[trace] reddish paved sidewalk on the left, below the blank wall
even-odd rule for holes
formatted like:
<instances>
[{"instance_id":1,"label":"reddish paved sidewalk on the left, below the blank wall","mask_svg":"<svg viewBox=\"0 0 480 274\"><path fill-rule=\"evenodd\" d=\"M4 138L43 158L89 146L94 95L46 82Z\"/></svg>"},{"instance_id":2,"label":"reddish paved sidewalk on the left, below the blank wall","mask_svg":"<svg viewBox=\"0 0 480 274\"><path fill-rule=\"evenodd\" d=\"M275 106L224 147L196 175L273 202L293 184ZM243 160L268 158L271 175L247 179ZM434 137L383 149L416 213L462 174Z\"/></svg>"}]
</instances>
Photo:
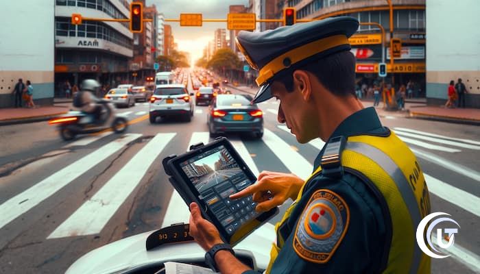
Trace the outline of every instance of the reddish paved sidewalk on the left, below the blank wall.
<instances>
[{"instance_id":1,"label":"reddish paved sidewalk on the left, below the blank wall","mask_svg":"<svg viewBox=\"0 0 480 274\"><path fill-rule=\"evenodd\" d=\"M40 106L39 108L0 108L0 126L47 121L70 110L67 106Z\"/></svg>"}]
</instances>

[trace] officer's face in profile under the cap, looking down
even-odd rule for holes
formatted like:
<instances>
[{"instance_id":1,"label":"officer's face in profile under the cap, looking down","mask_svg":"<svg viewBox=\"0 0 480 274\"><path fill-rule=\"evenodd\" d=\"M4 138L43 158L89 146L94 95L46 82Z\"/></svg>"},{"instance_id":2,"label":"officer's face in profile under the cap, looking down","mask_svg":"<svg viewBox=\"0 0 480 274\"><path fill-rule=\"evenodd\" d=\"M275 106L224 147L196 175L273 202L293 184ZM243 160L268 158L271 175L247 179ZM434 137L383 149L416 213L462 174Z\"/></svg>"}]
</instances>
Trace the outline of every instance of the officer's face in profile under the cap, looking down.
<instances>
[{"instance_id":1,"label":"officer's face in profile under the cap, looking down","mask_svg":"<svg viewBox=\"0 0 480 274\"><path fill-rule=\"evenodd\" d=\"M294 134L298 142L304 144L309 142L315 136L315 119L312 119L309 103L304 101L301 92L293 88L293 92L288 92L285 86L279 82L272 83L272 95L280 100L278 106L278 123L285 123Z\"/></svg>"}]
</instances>

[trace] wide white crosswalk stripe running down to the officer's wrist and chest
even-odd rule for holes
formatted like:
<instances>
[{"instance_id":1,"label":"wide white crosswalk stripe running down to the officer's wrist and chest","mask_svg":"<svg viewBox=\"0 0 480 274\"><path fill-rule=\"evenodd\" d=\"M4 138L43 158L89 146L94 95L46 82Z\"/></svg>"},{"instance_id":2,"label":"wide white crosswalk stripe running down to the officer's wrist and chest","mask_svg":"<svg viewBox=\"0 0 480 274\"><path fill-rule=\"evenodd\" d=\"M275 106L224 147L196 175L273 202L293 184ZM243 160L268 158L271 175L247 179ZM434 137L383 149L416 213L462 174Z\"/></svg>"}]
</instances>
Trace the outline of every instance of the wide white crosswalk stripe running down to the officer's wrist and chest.
<instances>
[{"instance_id":1,"label":"wide white crosswalk stripe running down to the officer's wrist and chest","mask_svg":"<svg viewBox=\"0 0 480 274\"><path fill-rule=\"evenodd\" d=\"M273 132L268 129L263 130L263 142L265 142L265 145L275 153L291 173L302 179L307 179L313 171L313 166L310 162L305 160L302 155L294 151L287 142Z\"/></svg>"}]
</instances>

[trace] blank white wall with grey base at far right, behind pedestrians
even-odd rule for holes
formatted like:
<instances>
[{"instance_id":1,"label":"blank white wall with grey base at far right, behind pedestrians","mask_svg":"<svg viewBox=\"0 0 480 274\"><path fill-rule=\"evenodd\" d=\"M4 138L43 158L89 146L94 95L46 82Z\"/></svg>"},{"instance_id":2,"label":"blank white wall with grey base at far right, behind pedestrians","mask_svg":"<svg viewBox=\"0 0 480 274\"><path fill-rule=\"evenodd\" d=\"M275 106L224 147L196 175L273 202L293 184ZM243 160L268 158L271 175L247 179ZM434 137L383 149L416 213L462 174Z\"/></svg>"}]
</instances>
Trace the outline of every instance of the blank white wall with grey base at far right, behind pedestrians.
<instances>
[{"instance_id":1,"label":"blank white wall with grey base at far right, behind pedestrians","mask_svg":"<svg viewBox=\"0 0 480 274\"><path fill-rule=\"evenodd\" d=\"M480 23L476 0L427 0L427 103L443 105L461 78L467 108L480 108ZM468 34L468 35L467 35Z\"/></svg>"}]
</instances>

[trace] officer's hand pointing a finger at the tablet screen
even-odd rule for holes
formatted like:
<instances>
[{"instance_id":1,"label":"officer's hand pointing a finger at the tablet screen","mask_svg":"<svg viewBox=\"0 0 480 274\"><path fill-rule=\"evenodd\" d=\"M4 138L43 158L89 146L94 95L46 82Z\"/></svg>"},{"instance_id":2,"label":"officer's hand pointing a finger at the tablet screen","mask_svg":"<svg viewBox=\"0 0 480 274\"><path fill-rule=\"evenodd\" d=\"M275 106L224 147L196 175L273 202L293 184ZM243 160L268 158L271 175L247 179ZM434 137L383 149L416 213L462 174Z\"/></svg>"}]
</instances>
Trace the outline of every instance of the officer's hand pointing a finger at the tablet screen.
<instances>
[{"instance_id":1,"label":"officer's hand pointing a finger at the tablet screen","mask_svg":"<svg viewBox=\"0 0 480 274\"><path fill-rule=\"evenodd\" d=\"M289 198L295 200L303 184L302 178L291 173L262 171L256 184L230 195L230 199L253 195L253 201L258 203L255 210L268 211Z\"/></svg>"}]
</instances>

